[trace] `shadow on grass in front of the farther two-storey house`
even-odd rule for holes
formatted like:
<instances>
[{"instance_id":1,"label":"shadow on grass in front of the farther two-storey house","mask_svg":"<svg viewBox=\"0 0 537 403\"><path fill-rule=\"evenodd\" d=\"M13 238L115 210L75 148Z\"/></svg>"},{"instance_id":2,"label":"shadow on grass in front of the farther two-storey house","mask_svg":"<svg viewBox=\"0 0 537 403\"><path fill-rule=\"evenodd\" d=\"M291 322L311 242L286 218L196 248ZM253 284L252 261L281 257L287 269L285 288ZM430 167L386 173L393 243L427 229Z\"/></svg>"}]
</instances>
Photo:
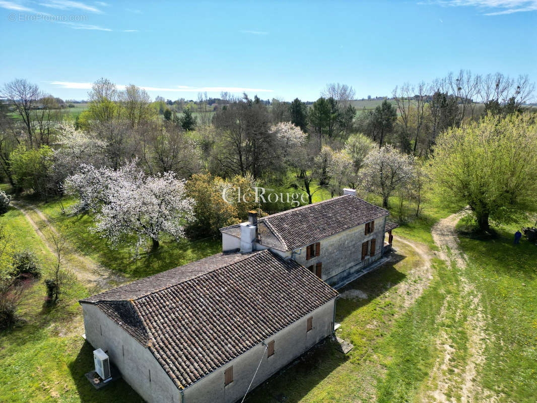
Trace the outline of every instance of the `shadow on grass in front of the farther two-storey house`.
<instances>
[{"instance_id":1,"label":"shadow on grass in front of the farther two-storey house","mask_svg":"<svg viewBox=\"0 0 537 403\"><path fill-rule=\"evenodd\" d=\"M336 321L340 322L347 316L358 310L360 307L367 305L370 301L378 298L383 293L387 292L391 287L402 282L407 276L395 268L395 265L407 256L392 252L390 260L384 263L378 269L355 279L353 282L339 289L339 293L343 294L349 290L360 290L367 294L367 298L345 298L345 304L339 303L336 311Z\"/></svg>"}]
</instances>

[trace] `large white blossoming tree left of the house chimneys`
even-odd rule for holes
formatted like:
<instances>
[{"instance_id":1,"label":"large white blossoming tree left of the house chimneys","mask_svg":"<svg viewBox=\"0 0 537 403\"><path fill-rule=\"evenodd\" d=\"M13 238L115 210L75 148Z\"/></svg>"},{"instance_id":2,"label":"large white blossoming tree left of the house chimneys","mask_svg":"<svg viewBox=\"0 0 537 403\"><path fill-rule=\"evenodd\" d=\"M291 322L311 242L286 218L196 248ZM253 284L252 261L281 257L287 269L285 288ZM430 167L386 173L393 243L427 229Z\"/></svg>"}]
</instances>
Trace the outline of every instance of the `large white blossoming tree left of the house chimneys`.
<instances>
[{"instance_id":1,"label":"large white blossoming tree left of the house chimneys","mask_svg":"<svg viewBox=\"0 0 537 403\"><path fill-rule=\"evenodd\" d=\"M68 178L67 189L79 197L74 212L95 212L92 231L114 246L134 235L137 250L148 240L156 250L163 234L182 238L194 219L194 200L186 196L184 181L173 172L145 176L134 162L118 171L85 165Z\"/></svg>"}]
</instances>

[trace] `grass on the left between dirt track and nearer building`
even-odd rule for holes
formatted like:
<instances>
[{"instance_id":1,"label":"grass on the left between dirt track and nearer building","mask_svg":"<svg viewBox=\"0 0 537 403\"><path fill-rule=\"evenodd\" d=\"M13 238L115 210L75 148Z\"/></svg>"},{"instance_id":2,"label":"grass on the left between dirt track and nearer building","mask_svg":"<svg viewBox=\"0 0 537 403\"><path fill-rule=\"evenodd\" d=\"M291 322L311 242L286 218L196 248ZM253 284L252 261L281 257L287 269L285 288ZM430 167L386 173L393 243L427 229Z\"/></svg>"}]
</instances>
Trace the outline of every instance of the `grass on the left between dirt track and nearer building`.
<instances>
[{"instance_id":1,"label":"grass on the left between dirt track and nearer building","mask_svg":"<svg viewBox=\"0 0 537 403\"><path fill-rule=\"evenodd\" d=\"M84 378L92 368L91 348L84 332L78 299L89 295L84 286L72 282L63 289L56 307L45 304L43 278L55 262L23 213L11 207L0 215L18 249L28 249L39 258L42 277L24 294L16 326L0 331L0 401L9 402L107 402L141 401L124 381L111 385L110 394L98 393Z\"/></svg>"}]
</instances>

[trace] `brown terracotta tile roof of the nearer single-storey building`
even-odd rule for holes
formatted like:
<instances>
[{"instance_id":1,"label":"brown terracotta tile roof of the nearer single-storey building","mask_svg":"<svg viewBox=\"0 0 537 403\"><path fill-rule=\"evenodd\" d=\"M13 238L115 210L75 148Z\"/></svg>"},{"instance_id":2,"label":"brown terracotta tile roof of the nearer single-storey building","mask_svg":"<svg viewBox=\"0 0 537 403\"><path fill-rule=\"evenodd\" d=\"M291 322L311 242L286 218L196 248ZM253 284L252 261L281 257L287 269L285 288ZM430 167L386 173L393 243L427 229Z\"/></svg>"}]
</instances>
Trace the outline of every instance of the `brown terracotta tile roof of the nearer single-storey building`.
<instances>
[{"instance_id":1,"label":"brown terracotta tile roof of the nearer single-storey building","mask_svg":"<svg viewBox=\"0 0 537 403\"><path fill-rule=\"evenodd\" d=\"M210 256L81 303L147 346L184 388L337 295L300 264L262 250Z\"/></svg>"}]
</instances>

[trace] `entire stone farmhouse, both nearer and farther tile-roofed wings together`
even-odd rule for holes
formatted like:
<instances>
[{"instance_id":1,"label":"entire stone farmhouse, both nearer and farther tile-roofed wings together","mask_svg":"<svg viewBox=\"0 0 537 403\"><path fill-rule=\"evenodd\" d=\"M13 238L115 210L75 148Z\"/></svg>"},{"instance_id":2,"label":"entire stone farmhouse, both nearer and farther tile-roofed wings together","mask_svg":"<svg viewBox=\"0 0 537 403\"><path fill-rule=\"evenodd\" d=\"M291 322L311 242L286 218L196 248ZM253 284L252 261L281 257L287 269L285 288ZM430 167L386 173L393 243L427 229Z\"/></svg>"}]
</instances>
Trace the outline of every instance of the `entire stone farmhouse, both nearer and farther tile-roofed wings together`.
<instances>
[{"instance_id":1,"label":"entire stone farmhouse, both nearer and farther tile-roofed wings together","mask_svg":"<svg viewBox=\"0 0 537 403\"><path fill-rule=\"evenodd\" d=\"M222 253L82 299L86 340L148 402L235 402L333 333L331 285L389 249L388 214L352 194L251 212Z\"/></svg>"}]
</instances>

